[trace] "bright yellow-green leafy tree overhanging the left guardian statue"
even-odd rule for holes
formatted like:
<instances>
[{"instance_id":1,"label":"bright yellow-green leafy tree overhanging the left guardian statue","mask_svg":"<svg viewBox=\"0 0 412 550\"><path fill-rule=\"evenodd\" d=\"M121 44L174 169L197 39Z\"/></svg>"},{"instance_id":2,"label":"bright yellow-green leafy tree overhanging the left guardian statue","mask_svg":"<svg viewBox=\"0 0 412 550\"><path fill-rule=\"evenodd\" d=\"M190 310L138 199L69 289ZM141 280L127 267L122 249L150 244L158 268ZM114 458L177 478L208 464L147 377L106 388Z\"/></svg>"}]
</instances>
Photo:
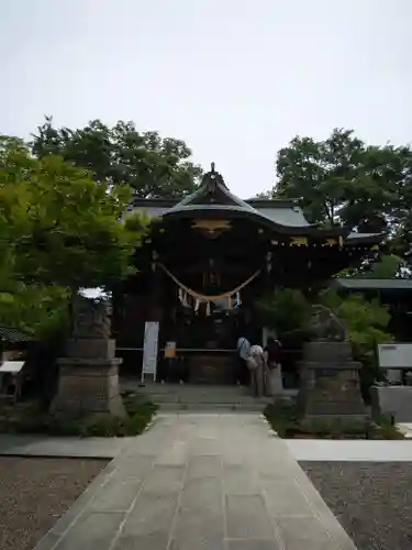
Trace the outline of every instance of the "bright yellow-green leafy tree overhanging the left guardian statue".
<instances>
[{"instance_id":1,"label":"bright yellow-green leafy tree overhanging the left guardian statue","mask_svg":"<svg viewBox=\"0 0 412 550\"><path fill-rule=\"evenodd\" d=\"M1 138L0 319L37 326L79 288L124 277L146 231L143 219L120 222L130 198L127 186Z\"/></svg>"}]
</instances>

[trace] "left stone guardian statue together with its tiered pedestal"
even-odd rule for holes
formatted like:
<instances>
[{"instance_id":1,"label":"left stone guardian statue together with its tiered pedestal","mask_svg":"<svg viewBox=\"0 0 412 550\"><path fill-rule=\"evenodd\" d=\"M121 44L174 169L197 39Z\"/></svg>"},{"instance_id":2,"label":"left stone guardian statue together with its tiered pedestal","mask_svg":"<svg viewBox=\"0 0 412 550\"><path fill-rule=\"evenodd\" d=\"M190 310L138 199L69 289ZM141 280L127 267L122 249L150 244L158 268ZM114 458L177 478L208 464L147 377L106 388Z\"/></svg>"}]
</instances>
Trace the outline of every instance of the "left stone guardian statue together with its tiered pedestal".
<instances>
[{"instance_id":1,"label":"left stone guardian statue together with its tiered pedestal","mask_svg":"<svg viewBox=\"0 0 412 550\"><path fill-rule=\"evenodd\" d=\"M108 306L91 300L77 305L74 338L58 360L59 381L51 413L62 417L126 415L119 393L115 341L110 339Z\"/></svg>"}]
</instances>

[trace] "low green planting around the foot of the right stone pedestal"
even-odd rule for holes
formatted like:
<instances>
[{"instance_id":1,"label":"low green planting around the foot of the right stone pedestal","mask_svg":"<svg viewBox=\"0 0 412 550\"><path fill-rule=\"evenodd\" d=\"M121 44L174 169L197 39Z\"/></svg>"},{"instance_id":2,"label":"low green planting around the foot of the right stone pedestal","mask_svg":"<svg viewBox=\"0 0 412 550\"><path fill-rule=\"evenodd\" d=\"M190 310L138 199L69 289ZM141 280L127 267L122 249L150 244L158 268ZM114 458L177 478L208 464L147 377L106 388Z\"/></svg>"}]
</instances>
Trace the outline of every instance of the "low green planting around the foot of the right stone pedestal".
<instances>
[{"instance_id":1,"label":"low green planting around the foot of the right stone pedestal","mask_svg":"<svg viewBox=\"0 0 412 550\"><path fill-rule=\"evenodd\" d=\"M378 421L313 419L302 421L296 400L278 399L267 405L264 415L282 439L404 439L389 417Z\"/></svg>"}]
</instances>

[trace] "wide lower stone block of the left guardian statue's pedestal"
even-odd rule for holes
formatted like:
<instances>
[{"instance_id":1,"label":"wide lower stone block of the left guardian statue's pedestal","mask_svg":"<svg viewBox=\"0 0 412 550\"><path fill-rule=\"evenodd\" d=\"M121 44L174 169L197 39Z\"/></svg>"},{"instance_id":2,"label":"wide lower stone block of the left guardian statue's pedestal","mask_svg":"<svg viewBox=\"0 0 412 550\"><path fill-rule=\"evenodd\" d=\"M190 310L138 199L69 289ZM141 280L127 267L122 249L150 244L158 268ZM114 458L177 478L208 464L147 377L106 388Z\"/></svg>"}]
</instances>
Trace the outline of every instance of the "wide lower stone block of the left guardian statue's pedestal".
<instances>
[{"instance_id":1,"label":"wide lower stone block of the left guardian statue's pedestal","mask_svg":"<svg viewBox=\"0 0 412 550\"><path fill-rule=\"evenodd\" d=\"M124 417L126 411L119 393L121 362L118 358L60 359L58 391L51 413L64 417L94 414Z\"/></svg>"}]
</instances>

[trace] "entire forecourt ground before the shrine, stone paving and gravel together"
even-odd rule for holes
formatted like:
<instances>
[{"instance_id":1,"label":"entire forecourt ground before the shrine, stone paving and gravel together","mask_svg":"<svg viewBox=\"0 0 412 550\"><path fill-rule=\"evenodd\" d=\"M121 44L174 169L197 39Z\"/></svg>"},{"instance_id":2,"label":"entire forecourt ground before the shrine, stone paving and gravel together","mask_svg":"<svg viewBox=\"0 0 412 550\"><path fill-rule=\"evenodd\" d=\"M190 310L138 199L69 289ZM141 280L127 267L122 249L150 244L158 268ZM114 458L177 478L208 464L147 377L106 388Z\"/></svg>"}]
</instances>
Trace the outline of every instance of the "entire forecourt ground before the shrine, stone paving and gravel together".
<instances>
[{"instance_id":1,"label":"entire forecourt ground before the shrine, stone paving and gravel together","mask_svg":"<svg viewBox=\"0 0 412 550\"><path fill-rule=\"evenodd\" d=\"M236 413L162 415L138 438L1 435L0 550L31 550L51 528L37 549L79 544L104 550L110 548L108 540L111 550L127 550L137 543L143 550L148 544L154 550L191 544L193 550L318 548L313 540L311 543L316 535L313 529L321 541L321 534L330 529L324 521L319 526L314 517L326 514L331 519L331 515L292 457L358 550L412 548L412 441L278 440L258 415ZM129 482L131 487L125 488ZM292 509L302 493L305 504L301 501ZM149 508L140 516L147 498ZM215 514L213 498L221 503ZM168 520L174 506L174 518ZM137 522L130 527L136 515ZM119 516L122 519L116 524ZM93 529L99 529L99 518L105 524L108 517L114 521L116 535L111 539L110 526L101 527L108 536L101 542ZM236 521L244 532L233 532ZM269 539L265 538L268 524L272 529ZM293 527L296 532L288 538ZM197 530L207 534L203 539L196 537ZM319 548L354 549L345 546L342 530L341 546L331 534L327 537Z\"/></svg>"}]
</instances>

